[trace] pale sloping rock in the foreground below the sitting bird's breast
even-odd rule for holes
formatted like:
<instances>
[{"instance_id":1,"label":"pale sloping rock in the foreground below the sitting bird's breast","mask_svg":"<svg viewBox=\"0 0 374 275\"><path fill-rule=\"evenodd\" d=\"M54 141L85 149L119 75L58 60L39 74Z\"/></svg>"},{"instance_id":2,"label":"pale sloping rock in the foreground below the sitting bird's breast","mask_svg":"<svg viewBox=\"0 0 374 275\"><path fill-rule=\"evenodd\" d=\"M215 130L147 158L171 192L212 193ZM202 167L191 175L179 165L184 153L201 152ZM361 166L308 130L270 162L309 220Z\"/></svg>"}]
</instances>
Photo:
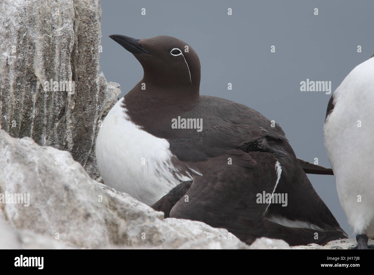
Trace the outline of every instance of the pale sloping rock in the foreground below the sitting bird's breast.
<instances>
[{"instance_id":1,"label":"pale sloping rock in the foreground below the sitting bird's breast","mask_svg":"<svg viewBox=\"0 0 374 275\"><path fill-rule=\"evenodd\" d=\"M15 243L22 248L248 248L226 229L163 219L162 212L92 180L68 152L4 130L0 171L0 202L8 197L0 209L16 229L0 227L6 236L0 249L8 238L21 239ZM24 201L10 201L21 193Z\"/></svg>"}]
</instances>

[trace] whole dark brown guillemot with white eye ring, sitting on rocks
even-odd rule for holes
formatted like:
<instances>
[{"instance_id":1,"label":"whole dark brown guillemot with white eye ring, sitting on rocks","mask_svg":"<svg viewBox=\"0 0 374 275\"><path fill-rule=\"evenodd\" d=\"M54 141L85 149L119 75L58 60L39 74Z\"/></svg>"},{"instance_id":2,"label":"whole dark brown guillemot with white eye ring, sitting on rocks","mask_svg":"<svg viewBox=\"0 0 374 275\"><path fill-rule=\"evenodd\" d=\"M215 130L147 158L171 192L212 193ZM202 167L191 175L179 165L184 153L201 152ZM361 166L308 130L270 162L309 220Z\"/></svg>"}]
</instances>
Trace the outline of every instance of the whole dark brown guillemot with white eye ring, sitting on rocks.
<instances>
[{"instance_id":1,"label":"whole dark brown guillemot with white eye ring, sitting on rocks","mask_svg":"<svg viewBox=\"0 0 374 275\"><path fill-rule=\"evenodd\" d=\"M144 76L99 130L105 184L166 217L224 227L248 243L268 236L324 244L345 236L303 171L329 169L299 162L281 127L257 111L200 96L200 61L189 45L169 36L110 37L134 54ZM263 203L262 193L287 195L287 206Z\"/></svg>"}]
</instances>

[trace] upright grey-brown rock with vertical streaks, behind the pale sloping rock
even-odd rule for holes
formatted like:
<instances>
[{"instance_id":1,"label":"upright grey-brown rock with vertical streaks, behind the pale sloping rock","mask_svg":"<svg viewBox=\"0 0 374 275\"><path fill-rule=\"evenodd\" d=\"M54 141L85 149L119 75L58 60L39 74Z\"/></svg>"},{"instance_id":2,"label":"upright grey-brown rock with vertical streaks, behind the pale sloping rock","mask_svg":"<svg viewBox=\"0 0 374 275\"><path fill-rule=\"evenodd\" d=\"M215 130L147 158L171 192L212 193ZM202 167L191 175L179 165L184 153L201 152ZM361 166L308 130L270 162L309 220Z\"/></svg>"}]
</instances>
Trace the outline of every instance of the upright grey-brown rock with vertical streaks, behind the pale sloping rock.
<instances>
[{"instance_id":1,"label":"upright grey-brown rock with vertical streaks, behind the pale sloping rock","mask_svg":"<svg viewBox=\"0 0 374 275\"><path fill-rule=\"evenodd\" d=\"M0 1L0 8L0 128L66 150L99 177L99 120L120 95L99 67L99 0ZM51 79L58 91L45 91Z\"/></svg>"}]
</instances>

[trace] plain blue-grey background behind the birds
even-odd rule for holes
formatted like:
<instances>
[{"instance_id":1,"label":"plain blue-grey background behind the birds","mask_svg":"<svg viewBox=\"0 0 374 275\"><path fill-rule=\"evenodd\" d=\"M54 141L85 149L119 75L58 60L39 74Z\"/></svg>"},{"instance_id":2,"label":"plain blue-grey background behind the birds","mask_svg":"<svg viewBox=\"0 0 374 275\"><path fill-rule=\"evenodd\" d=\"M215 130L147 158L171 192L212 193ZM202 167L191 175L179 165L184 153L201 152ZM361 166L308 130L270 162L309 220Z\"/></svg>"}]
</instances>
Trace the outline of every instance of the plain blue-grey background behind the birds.
<instances>
[{"instance_id":1,"label":"plain blue-grey background behind the birds","mask_svg":"<svg viewBox=\"0 0 374 275\"><path fill-rule=\"evenodd\" d=\"M188 43L201 63L200 94L245 104L275 120L298 158L331 167L323 139L325 92L301 92L306 79L331 81L332 92L374 53L372 0L114 1L102 0L100 66L122 96L143 71L108 36L168 35ZM146 15L141 15L141 9ZM232 15L227 9L232 8ZM313 15L318 8L319 15ZM275 53L270 46L275 45ZM362 52L357 52L357 46ZM232 83L232 91L227 83ZM331 93L332 94L332 93ZM349 160L347 160L349 161ZM329 175L309 175L317 193L352 237Z\"/></svg>"}]
</instances>

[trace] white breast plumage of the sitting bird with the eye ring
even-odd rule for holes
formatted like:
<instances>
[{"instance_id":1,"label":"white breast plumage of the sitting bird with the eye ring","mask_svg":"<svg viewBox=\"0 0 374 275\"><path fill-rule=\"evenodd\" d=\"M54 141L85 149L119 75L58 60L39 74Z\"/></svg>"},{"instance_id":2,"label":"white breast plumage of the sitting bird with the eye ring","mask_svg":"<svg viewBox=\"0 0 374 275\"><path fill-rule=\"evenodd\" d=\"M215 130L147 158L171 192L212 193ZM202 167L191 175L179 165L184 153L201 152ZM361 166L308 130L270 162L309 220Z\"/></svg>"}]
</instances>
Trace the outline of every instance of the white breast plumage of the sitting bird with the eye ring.
<instances>
[{"instance_id":1,"label":"white breast plumage of the sitting bird with the eye ring","mask_svg":"<svg viewBox=\"0 0 374 275\"><path fill-rule=\"evenodd\" d=\"M171 163L169 143L131 122L123 98L109 111L96 140L96 159L105 184L151 205L192 177Z\"/></svg>"}]
</instances>

